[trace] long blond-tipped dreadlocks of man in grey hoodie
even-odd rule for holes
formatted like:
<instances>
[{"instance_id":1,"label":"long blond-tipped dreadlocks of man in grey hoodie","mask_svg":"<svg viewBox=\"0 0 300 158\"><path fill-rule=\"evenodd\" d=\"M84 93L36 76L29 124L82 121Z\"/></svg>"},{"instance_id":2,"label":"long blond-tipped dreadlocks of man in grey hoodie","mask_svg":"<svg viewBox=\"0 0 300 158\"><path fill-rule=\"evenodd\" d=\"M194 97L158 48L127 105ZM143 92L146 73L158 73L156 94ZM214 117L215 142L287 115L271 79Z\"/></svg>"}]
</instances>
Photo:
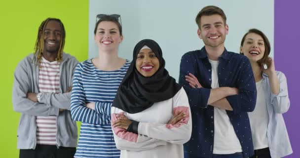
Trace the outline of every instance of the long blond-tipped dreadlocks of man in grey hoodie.
<instances>
[{"instance_id":1,"label":"long blond-tipped dreadlocks of man in grey hoodie","mask_svg":"<svg viewBox=\"0 0 300 158\"><path fill-rule=\"evenodd\" d=\"M36 60L37 64L40 62L43 51L44 51L44 31L45 31L45 27L46 27L47 23L51 20L57 21L60 24L60 27L62 29L62 33L61 33L61 39L62 40L60 41L58 54L57 54L57 57L56 57L55 60L56 61L62 61L63 60L63 50L64 50L65 38L66 38L66 32L65 32L64 24L62 23L62 21L60 19L47 18L38 27L38 38L37 38L37 41L36 41L35 52L34 52L34 55L37 58L37 60Z\"/></svg>"}]
</instances>

